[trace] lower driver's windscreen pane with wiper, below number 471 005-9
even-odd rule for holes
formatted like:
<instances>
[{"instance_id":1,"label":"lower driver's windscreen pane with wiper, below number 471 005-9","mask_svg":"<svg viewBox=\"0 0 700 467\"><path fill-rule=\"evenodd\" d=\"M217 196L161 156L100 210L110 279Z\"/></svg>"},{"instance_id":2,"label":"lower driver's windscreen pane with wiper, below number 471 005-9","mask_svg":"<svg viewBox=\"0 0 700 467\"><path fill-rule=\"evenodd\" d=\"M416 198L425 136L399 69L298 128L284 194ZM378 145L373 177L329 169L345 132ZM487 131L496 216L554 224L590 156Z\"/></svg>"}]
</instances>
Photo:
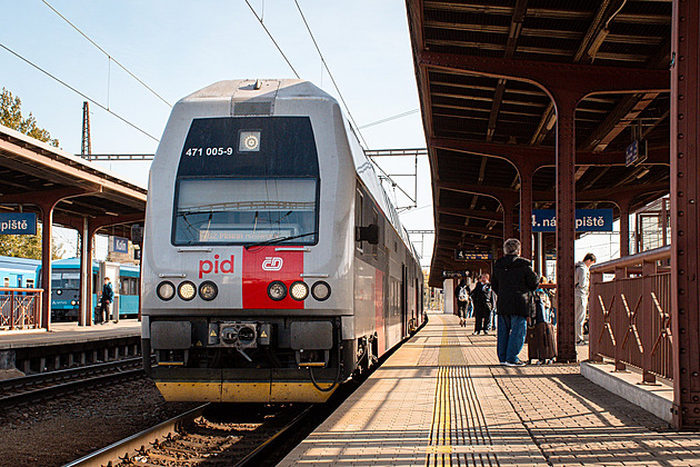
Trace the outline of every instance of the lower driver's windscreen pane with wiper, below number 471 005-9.
<instances>
[{"instance_id":1,"label":"lower driver's windscreen pane with wiper, below number 471 005-9","mask_svg":"<svg viewBox=\"0 0 700 467\"><path fill-rule=\"evenodd\" d=\"M317 180L183 179L178 186L176 217L176 245L250 244L292 237L294 244L312 245Z\"/></svg>"}]
</instances>

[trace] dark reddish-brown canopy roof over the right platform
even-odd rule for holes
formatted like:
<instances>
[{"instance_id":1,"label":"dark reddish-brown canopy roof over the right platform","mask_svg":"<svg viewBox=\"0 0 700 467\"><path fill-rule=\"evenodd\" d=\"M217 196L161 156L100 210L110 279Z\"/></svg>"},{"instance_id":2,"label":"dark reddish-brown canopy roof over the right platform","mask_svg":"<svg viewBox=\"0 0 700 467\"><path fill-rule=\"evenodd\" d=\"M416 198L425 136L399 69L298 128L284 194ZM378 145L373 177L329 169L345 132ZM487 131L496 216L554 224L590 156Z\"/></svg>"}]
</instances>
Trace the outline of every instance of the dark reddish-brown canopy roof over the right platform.
<instances>
[{"instance_id":1,"label":"dark reddish-brown canopy roof over the right platform","mask_svg":"<svg viewBox=\"0 0 700 467\"><path fill-rule=\"evenodd\" d=\"M554 208L557 107L547 89L606 89L576 107L577 208L619 218L669 192L671 6L407 0L433 180L432 286L469 266L456 249L496 251L518 237L522 180L532 208ZM647 159L626 167L633 140Z\"/></svg>"}]
</instances>

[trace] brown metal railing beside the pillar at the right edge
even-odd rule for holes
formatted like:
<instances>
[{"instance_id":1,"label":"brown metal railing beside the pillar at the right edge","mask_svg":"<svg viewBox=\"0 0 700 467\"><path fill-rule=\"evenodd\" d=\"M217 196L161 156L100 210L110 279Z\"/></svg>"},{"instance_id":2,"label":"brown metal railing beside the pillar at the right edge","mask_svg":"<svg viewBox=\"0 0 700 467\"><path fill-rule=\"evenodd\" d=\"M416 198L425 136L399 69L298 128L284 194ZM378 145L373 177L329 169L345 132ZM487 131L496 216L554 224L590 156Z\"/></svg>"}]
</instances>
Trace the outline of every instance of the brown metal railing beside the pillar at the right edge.
<instances>
[{"instance_id":1,"label":"brown metal railing beside the pillar at the right edge","mask_svg":"<svg viewBox=\"0 0 700 467\"><path fill-rule=\"evenodd\" d=\"M673 378L671 271L659 266L670 257L666 246L591 267L591 359L613 359L616 370L640 368L642 382ZM604 274L614 278L606 281Z\"/></svg>"}]
</instances>

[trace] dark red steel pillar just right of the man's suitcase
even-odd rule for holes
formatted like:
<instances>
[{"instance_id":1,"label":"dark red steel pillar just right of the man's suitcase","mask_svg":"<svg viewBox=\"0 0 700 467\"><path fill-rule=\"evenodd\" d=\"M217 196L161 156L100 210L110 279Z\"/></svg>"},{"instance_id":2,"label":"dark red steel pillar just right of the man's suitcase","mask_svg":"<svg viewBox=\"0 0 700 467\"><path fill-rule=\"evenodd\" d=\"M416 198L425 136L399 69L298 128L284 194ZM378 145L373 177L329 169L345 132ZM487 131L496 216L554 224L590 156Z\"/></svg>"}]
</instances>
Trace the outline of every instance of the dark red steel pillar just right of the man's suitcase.
<instances>
[{"instance_id":1,"label":"dark red steel pillar just right of the man's suitcase","mask_svg":"<svg viewBox=\"0 0 700 467\"><path fill-rule=\"evenodd\" d=\"M573 310L576 239L576 133L578 96L554 96L557 108L557 360L577 361Z\"/></svg>"}]
</instances>

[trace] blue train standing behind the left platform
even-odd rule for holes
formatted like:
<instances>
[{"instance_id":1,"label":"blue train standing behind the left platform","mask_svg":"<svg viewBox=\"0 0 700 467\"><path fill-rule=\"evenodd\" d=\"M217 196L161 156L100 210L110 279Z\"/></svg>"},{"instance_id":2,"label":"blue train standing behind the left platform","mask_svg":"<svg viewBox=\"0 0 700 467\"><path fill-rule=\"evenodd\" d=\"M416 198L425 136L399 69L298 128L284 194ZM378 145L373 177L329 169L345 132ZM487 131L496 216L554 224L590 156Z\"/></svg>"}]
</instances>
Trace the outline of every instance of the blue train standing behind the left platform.
<instances>
[{"instance_id":1,"label":"blue train standing behind the left platform","mask_svg":"<svg viewBox=\"0 0 700 467\"><path fill-rule=\"evenodd\" d=\"M101 291L101 261L92 261L92 304L98 305ZM139 267L117 265L119 280L111 277L118 296L119 317L136 318L139 312ZM114 268L112 268L114 270ZM114 275L117 276L117 275ZM40 288L41 261L0 256L2 287ZM51 264L51 320L77 320L80 308L80 258L58 259Z\"/></svg>"}]
</instances>

